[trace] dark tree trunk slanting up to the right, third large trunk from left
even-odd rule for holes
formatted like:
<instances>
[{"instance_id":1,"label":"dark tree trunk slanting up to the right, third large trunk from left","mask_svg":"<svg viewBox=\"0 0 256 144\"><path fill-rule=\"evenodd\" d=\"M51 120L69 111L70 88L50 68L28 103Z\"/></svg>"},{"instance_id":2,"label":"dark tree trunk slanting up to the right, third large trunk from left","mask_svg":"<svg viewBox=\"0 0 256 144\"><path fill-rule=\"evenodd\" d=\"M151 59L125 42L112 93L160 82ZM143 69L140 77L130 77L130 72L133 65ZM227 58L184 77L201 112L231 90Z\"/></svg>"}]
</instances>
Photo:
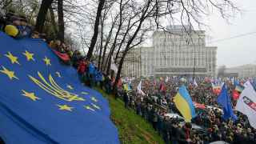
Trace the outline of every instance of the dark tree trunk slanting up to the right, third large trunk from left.
<instances>
[{"instance_id":1,"label":"dark tree trunk slanting up to the right, third large trunk from left","mask_svg":"<svg viewBox=\"0 0 256 144\"><path fill-rule=\"evenodd\" d=\"M90 60L90 58L92 57L94 46L97 42L99 19L101 18L101 15L102 15L102 9L103 9L104 3L105 3L105 0L100 0L98 3L98 10L96 14L95 23L94 23L94 35L90 40L90 47L86 55L86 60Z\"/></svg>"}]
</instances>

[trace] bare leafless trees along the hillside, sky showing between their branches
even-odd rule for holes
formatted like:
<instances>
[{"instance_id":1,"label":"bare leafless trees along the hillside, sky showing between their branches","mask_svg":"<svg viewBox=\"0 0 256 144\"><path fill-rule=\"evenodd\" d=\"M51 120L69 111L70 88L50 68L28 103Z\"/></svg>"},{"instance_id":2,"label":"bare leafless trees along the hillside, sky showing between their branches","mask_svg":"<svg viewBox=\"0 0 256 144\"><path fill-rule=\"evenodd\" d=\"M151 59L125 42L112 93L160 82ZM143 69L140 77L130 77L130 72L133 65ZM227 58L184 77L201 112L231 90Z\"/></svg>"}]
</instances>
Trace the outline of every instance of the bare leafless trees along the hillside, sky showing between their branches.
<instances>
[{"instance_id":1,"label":"bare leafless trees along the hillside, sky showing between their branches","mask_svg":"<svg viewBox=\"0 0 256 144\"><path fill-rule=\"evenodd\" d=\"M35 29L52 34L62 42L70 38L86 52L86 59L98 69L121 78L122 66L130 50L141 46L154 30L170 25L206 26L202 18L218 11L229 19L238 12L231 0L0 0L2 8L18 7ZM58 20L58 22L56 22ZM186 30L190 34L190 30ZM70 34L69 34L70 35ZM71 37L72 39L72 37ZM118 64L118 73L110 70Z\"/></svg>"}]
</instances>

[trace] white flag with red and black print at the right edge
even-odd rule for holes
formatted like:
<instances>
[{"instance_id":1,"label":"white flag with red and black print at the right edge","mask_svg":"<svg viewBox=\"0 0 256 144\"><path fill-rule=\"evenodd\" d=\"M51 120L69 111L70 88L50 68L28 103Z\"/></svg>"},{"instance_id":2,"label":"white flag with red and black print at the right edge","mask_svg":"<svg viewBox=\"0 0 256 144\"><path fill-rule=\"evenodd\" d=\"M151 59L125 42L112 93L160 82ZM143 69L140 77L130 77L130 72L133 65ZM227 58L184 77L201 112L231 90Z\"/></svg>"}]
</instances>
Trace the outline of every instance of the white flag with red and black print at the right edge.
<instances>
[{"instance_id":1,"label":"white flag with red and black print at the right edge","mask_svg":"<svg viewBox=\"0 0 256 144\"><path fill-rule=\"evenodd\" d=\"M256 92L250 82L244 84L245 89L238 99L235 110L245 114L250 122L250 126L256 129Z\"/></svg>"}]
</instances>

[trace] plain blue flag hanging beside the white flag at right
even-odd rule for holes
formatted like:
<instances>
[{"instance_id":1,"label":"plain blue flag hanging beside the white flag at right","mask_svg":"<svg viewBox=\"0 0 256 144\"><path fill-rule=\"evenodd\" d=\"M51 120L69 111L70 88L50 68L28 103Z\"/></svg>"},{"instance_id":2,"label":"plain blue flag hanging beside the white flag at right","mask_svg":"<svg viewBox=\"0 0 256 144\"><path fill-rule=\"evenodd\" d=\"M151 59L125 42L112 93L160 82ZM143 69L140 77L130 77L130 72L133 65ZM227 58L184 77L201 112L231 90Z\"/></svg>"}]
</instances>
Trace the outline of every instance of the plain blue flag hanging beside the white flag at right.
<instances>
[{"instance_id":1,"label":"plain blue flag hanging beside the white flag at right","mask_svg":"<svg viewBox=\"0 0 256 144\"><path fill-rule=\"evenodd\" d=\"M222 91L221 93L218 95L218 99L217 102L220 106L222 106L222 110L223 110L223 119L227 120L229 118L232 118L233 121L237 120L237 116L234 115L232 106L231 106L231 101L230 101L230 96L226 90L226 84L224 84L222 86Z\"/></svg>"}]
</instances>

